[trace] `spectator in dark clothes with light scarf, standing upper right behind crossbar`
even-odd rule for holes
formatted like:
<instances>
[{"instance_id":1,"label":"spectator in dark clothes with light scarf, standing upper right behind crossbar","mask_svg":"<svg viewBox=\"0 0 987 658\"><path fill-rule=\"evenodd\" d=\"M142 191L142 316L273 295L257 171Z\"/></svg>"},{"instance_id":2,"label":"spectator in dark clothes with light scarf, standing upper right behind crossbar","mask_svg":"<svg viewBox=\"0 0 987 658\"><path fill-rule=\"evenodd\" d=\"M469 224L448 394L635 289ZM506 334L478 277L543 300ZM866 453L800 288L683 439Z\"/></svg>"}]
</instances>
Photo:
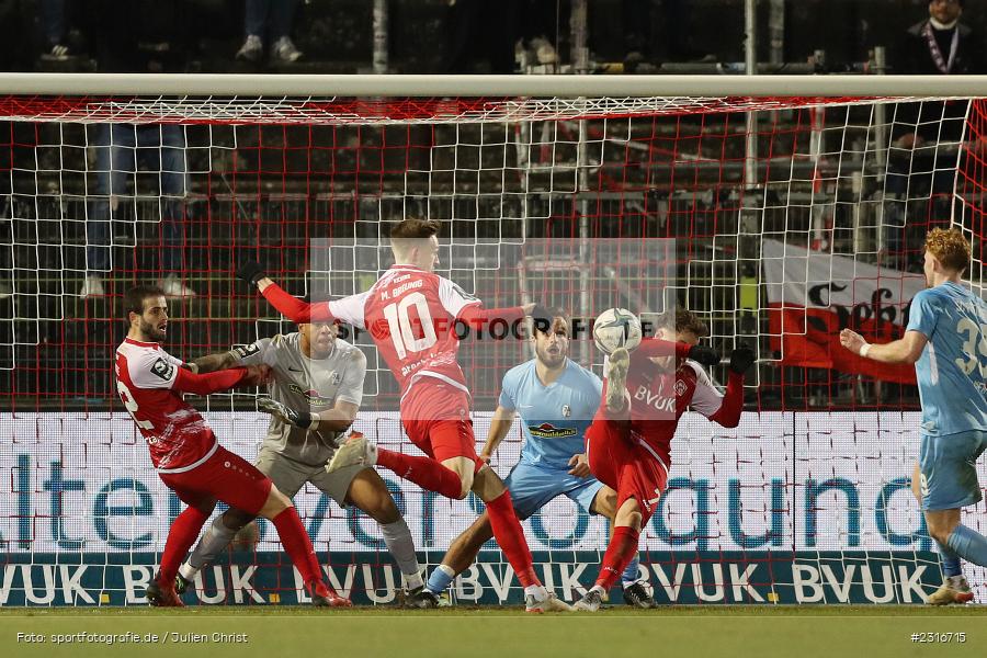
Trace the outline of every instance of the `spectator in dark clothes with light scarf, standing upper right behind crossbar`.
<instances>
[{"instance_id":1,"label":"spectator in dark clothes with light scarf, standing upper right behind crossbar","mask_svg":"<svg viewBox=\"0 0 987 658\"><path fill-rule=\"evenodd\" d=\"M903 35L892 50L895 75L985 72L984 35L960 22L964 0L932 0L929 16ZM894 110L885 183L885 249L888 264L920 266L921 239L929 226L907 220L910 200L930 200L929 219L950 218L958 150L968 101L899 103ZM915 235L908 232L914 226Z\"/></svg>"}]
</instances>

